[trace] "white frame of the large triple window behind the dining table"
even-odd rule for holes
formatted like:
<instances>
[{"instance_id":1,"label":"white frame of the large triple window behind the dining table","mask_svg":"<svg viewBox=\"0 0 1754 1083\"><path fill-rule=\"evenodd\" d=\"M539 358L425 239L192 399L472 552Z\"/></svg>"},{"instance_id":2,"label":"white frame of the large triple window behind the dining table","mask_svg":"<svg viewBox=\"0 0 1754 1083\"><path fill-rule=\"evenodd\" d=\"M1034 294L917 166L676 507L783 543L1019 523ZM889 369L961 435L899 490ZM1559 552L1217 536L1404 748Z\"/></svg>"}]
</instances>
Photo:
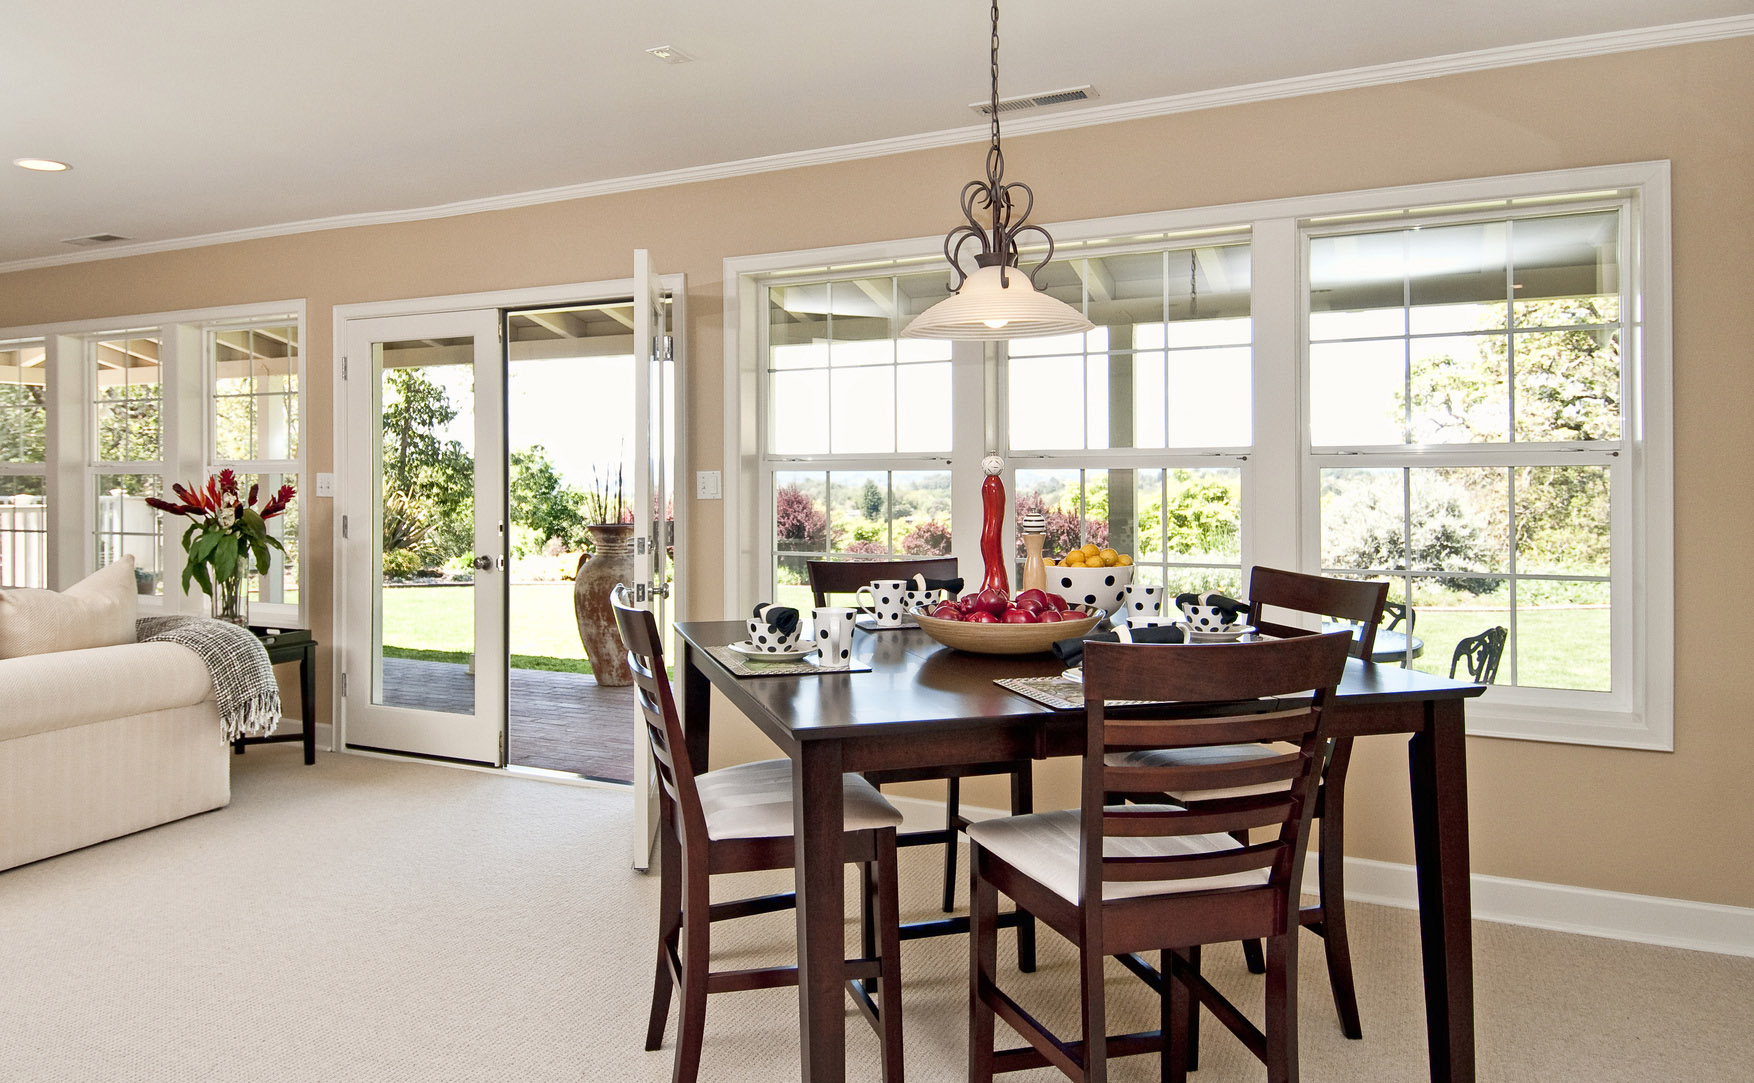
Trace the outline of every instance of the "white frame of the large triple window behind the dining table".
<instances>
[{"instance_id":1,"label":"white frame of the large triple window behind the dining table","mask_svg":"<svg viewBox=\"0 0 1754 1083\"><path fill-rule=\"evenodd\" d=\"M1254 446L1244 463L1242 562L1317 569L1316 518L1317 456L1308 446L1308 358L1301 346L1307 326L1301 223L1338 216L1380 216L1407 209L1503 202L1507 211L1540 200L1582 198L1589 193L1629 193L1631 246L1622 253L1631 277L1633 304L1622 312L1622 365L1629 404L1624 414L1624 500L1615 491L1614 620L1615 651L1629 686L1605 702L1601 693L1493 686L1468 707L1473 735L1515 737L1617 748L1673 749L1673 391L1672 391L1672 288L1670 288L1670 167L1635 161L1535 174L1514 174L1433 184L1408 184L1349 193L1263 200L1103 219L1049 223L1059 256L1080 255L1080 246L1126 237L1184 239L1201 230L1249 230L1251 314L1254 321ZM840 246L724 260L724 613L740 613L766 588L765 567L772 493L763 484L761 442L761 326L765 283L781 272L912 270L942 260L938 237ZM958 344L959 349L979 346ZM958 358L963 355L958 353ZM986 365L986 395L993 400L998 370ZM980 442L995 446L1000 420L968 421L959 411L954 458L963 455L963 430L980 428ZM1079 453L1087 455L1087 453ZM1165 456L1168 458L1168 456ZM812 460L812 467L816 462ZM1066 462L1066 465L1072 465ZM824 469L831 465L824 463ZM972 497L977 481L968 469L952 469L959 513L954 537L979 532ZM977 469L975 469L977 474ZM1294 509L1286 514L1284 509ZM965 523L963 520L973 520ZM1621 528L1624 527L1624 528ZM1010 525L1007 525L1010 528ZM963 548L963 546L959 546ZM1619 679L1621 669L1615 671Z\"/></svg>"}]
</instances>

